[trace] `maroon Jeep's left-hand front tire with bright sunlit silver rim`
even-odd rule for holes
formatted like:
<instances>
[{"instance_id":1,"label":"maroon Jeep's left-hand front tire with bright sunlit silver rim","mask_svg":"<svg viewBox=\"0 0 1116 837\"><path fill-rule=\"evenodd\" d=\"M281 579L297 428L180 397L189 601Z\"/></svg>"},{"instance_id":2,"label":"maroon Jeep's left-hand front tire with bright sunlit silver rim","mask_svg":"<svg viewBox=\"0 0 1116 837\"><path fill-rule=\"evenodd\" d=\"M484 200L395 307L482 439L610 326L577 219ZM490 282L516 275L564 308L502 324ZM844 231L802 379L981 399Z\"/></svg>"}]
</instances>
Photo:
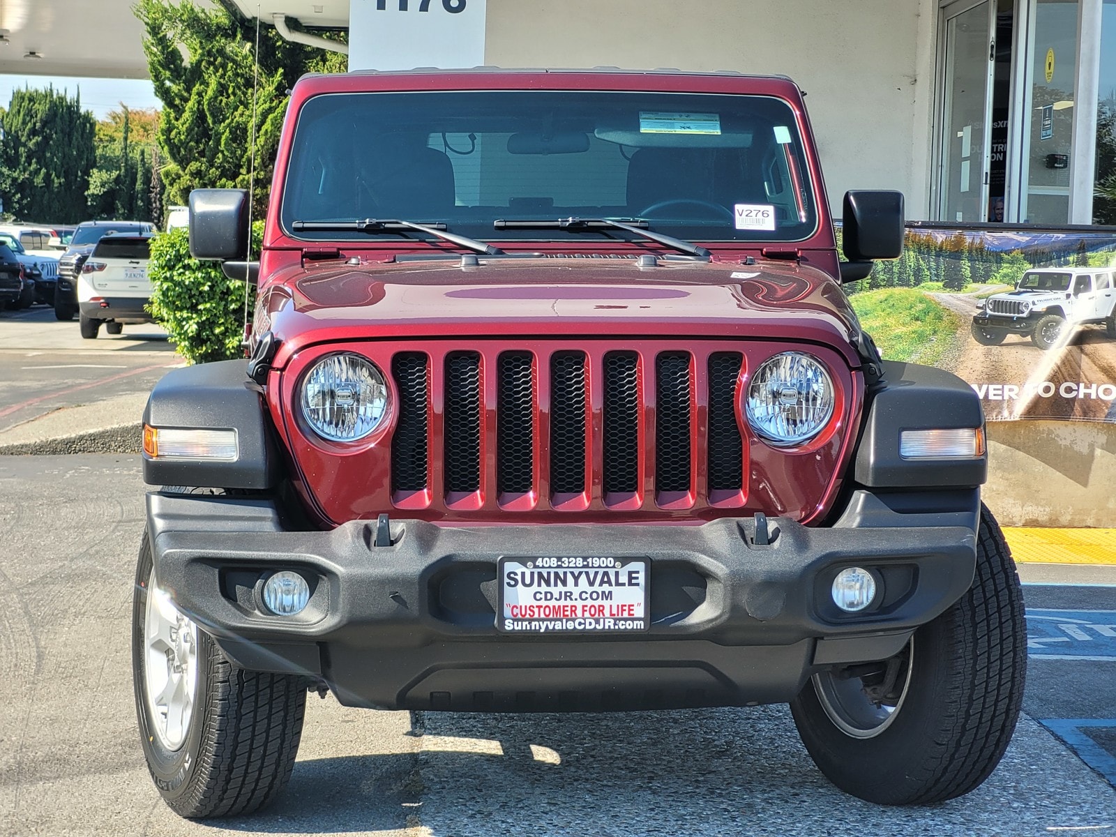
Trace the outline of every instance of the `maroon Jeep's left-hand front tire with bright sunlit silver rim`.
<instances>
[{"instance_id":1,"label":"maroon Jeep's left-hand front tire with bright sunlit silver rim","mask_svg":"<svg viewBox=\"0 0 1116 837\"><path fill-rule=\"evenodd\" d=\"M132 674L151 777L182 817L257 811L290 779L306 683L233 666L209 635L153 590L144 531L132 607Z\"/></svg>"}]
</instances>

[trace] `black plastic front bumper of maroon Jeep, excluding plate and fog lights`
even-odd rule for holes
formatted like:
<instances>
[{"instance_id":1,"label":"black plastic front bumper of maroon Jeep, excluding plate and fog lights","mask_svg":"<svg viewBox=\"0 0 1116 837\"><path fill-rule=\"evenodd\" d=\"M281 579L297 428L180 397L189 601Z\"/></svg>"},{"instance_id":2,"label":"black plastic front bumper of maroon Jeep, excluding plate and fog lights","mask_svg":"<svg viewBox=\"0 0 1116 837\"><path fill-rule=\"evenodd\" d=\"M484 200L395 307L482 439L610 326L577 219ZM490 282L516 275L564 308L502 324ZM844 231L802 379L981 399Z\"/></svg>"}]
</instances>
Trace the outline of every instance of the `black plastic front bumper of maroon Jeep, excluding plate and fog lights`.
<instances>
[{"instance_id":1,"label":"black plastic front bumper of maroon Jeep, excluding plate and fog lights","mask_svg":"<svg viewBox=\"0 0 1116 837\"><path fill-rule=\"evenodd\" d=\"M155 573L239 665L326 682L382 709L595 711L789 701L815 672L883 660L956 602L975 566L977 491L952 511L888 508L858 491L833 528L751 519L701 526L501 526L375 521L285 530L267 500L152 492ZM760 539L762 540L762 539ZM648 556L650 631L509 635L496 628L497 559ZM829 598L847 566L878 573L869 613ZM266 615L262 578L297 569L309 607Z\"/></svg>"}]
</instances>

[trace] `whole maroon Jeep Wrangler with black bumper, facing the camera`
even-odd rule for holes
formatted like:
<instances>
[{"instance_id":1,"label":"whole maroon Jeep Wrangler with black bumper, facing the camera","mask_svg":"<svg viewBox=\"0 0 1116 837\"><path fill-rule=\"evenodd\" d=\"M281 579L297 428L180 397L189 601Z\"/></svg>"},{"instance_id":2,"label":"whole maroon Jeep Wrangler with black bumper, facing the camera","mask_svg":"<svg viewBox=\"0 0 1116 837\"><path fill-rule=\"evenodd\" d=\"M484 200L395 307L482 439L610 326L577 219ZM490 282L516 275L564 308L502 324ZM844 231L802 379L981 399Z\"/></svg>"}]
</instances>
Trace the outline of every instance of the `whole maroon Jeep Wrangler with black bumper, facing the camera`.
<instances>
[{"instance_id":1,"label":"whole maroon Jeep Wrangler with black bumper, facing the camera","mask_svg":"<svg viewBox=\"0 0 1116 837\"><path fill-rule=\"evenodd\" d=\"M290 776L343 704L790 703L867 800L979 786L1019 712L1019 583L980 402L883 360L841 291L798 87L627 71L307 77L259 260L248 195L191 251L258 285L250 358L144 415L136 708L186 817ZM175 488L170 488L175 487Z\"/></svg>"}]
</instances>

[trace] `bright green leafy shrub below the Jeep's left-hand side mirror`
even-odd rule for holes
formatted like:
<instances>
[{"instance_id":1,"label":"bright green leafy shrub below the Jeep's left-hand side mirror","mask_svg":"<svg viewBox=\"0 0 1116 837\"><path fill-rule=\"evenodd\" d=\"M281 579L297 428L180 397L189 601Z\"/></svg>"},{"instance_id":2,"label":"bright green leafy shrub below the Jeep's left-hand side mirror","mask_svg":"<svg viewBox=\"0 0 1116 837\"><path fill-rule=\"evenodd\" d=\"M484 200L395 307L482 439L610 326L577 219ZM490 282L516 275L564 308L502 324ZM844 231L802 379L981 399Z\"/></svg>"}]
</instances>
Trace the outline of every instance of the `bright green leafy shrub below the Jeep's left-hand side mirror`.
<instances>
[{"instance_id":1,"label":"bright green leafy shrub below the Jeep's left-hand side mirror","mask_svg":"<svg viewBox=\"0 0 1116 837\"><path fill-rule=\"evenodd\" d=\"M252 231L252 249L259 252L262 224ZM241 279L229 279L217 261L190 256L190 237L179 229L156 235L151 242L152 316L158 320L192 364L229 360L243 356L244 294Z\"/></svg>"}]
</instances>

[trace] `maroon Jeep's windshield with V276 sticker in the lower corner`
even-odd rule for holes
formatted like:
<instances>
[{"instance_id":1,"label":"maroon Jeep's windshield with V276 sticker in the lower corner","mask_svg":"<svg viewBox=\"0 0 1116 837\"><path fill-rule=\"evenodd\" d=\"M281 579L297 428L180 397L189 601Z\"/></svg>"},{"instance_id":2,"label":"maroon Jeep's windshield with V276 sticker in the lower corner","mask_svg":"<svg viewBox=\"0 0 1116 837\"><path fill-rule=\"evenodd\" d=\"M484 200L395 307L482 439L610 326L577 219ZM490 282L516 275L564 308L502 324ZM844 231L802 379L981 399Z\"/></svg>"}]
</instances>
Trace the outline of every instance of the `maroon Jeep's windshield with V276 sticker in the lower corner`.
<instances>
[{"instance_id":1,"label":"maroon Jeep's windshield with V276 sticker in the lower corner","mask_svg":"<svg viewBox=\"0 0 1116 837\"><path fill-rule=\"evenodd\" d=\"M331 94L299 115L281 219L405 219L480 240L585 240L497 221L644 219L689 240L817 227L790 106L767 96L583 90ZM298 238L357 232L298 231ZM629 238L600 225L593 237Z\"/></svg>"}]
</instances>

